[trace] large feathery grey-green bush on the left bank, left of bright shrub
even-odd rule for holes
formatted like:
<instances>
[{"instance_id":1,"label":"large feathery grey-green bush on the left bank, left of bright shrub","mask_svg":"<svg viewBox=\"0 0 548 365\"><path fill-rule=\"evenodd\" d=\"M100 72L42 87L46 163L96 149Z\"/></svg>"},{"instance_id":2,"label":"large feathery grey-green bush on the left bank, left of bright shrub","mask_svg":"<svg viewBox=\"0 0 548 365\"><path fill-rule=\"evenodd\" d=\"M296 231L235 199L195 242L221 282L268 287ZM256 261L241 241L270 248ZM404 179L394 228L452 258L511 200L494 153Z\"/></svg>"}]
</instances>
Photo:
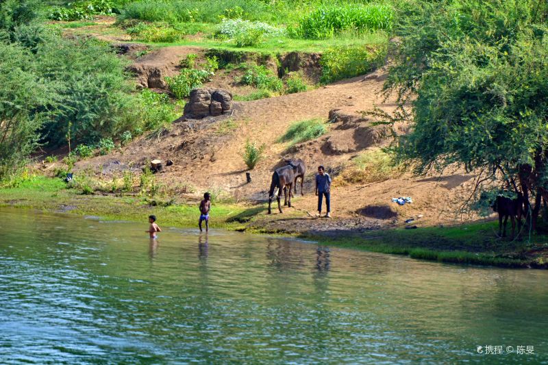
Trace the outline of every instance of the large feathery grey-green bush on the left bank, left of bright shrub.
<instances>
[{"instance_id":1,"label":"large feathery grey-green bush on the left bank, left of bright shrub","mask_svg":"<svg viewBox=\"0 0 548 365\"><path fill-rule=\"evenodd\" d=\"M66 142L69 127L74 140L95 144L134 124L126 62L105 42L54 37L38 49L35 61L58 101L41 130L51 146Z\"/></svg>"}]
</instances>

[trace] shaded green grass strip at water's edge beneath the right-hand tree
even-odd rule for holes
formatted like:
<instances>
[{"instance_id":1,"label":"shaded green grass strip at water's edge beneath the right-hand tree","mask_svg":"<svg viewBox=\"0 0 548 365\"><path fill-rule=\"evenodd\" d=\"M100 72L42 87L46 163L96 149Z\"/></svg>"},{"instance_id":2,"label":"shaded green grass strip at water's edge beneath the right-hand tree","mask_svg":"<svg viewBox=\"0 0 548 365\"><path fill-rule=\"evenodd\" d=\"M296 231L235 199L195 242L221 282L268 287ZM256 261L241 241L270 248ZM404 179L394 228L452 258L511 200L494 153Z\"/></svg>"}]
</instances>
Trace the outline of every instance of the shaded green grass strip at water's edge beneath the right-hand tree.
<instances>
[{"instance_id":1,"label":"shaded green grass strip at water's edge beneath the right-hand tree","mask_svg":"<svg viewBox=\"0 0 548 365\"><path fill-rule=\"evenodd\" d=\"M453 264L501 267L544 267L547 264L545 258L530 253L532 249L546 247L547 236L534 235L530 242L527 237L514 241L499 240L494 234L497 229L497 222L486 222L456 227L387 229L341 238L306 238L339 247Z\"/></svg>"}]
</instances>

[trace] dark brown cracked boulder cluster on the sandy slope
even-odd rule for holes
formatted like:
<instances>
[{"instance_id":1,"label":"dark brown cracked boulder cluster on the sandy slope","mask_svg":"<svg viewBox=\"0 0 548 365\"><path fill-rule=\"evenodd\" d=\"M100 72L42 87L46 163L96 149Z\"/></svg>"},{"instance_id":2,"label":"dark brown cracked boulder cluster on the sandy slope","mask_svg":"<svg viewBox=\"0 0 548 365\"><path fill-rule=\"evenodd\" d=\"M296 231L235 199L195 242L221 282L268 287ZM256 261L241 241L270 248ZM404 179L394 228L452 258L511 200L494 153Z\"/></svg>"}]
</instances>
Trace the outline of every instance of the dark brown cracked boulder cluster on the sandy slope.
<instances>
[{"instance_id":1,"label":"dark brown cracked boulder cluster on the sandy slope","mask_svg":"<svg viewBox=\"0 0 548 365\"><path fill-rule=\"evenodd\" d=\"M232 111L232 94L223 89L199 88L190 92L190 100L184 106L184 117L201 119L219 116Z\"/></svg>"}]
</instances>

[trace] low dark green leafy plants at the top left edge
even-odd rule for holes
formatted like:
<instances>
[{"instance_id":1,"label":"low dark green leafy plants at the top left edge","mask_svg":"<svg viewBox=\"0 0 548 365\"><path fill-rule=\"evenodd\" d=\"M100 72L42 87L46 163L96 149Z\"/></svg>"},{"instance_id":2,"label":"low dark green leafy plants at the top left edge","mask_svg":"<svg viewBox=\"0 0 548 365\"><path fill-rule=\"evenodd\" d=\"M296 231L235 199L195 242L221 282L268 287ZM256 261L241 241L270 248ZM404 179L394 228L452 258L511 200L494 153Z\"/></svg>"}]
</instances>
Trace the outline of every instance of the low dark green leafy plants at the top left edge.
<instances>
[{"instance_id":1,"label":"low dark green leafy plants at the top left edge","mask_svg":"<svg viewBox=\"0 0 548 365\"><path fill-rule=\"evenodd\" d=\"M53 21L79 21L92 19L94 15L110 15L113 10L114 3L110 0L75 1L68 8L52 8L48 18Z\"/></svg>"}]
</instances>

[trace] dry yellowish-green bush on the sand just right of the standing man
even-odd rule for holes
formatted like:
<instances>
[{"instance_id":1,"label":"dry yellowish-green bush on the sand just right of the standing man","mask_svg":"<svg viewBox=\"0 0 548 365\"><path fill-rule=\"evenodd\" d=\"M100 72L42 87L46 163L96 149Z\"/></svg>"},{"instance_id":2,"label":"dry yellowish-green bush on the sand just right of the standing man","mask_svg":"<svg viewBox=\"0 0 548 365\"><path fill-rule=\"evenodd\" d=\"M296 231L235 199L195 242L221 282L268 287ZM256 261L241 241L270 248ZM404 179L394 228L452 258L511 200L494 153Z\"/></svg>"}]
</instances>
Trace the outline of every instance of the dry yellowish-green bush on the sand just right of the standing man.
<instances>
[{"instance_id":1,"label":"dry yellowish-green bush on the sand just right of the standing man","mask_svg":"<svg viewBox=\"0 0 548 365\"><path fill-rule=\"evenodd\" d=\"M370 184L399 177L403 166L382 150L366 151L352 160L351 166L340 173L338 184Z\"/></svg>"}]
</instances>

